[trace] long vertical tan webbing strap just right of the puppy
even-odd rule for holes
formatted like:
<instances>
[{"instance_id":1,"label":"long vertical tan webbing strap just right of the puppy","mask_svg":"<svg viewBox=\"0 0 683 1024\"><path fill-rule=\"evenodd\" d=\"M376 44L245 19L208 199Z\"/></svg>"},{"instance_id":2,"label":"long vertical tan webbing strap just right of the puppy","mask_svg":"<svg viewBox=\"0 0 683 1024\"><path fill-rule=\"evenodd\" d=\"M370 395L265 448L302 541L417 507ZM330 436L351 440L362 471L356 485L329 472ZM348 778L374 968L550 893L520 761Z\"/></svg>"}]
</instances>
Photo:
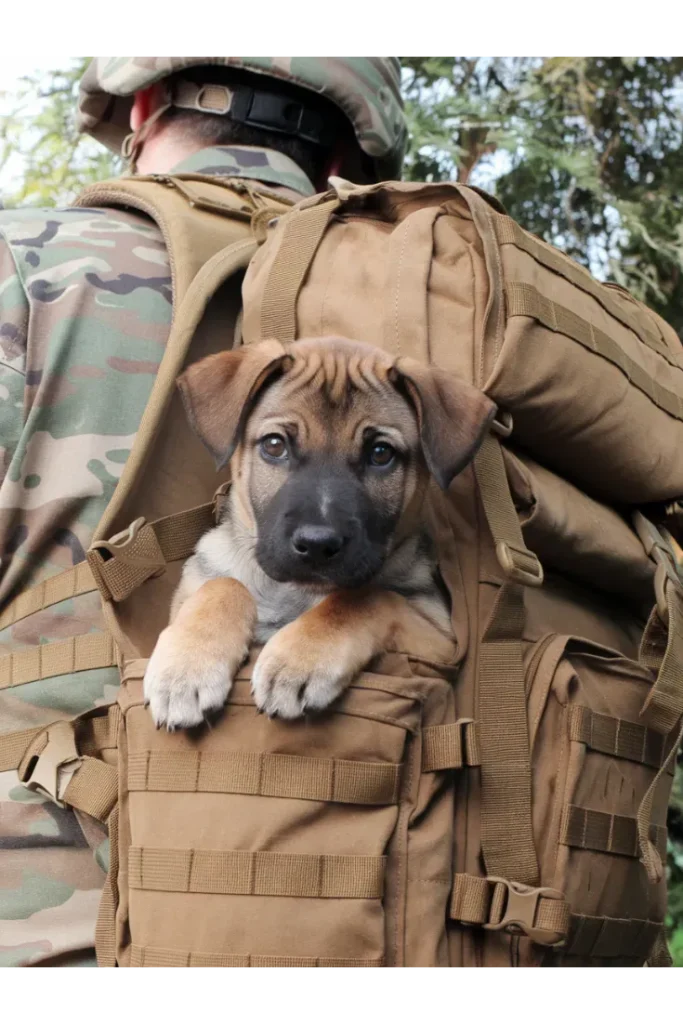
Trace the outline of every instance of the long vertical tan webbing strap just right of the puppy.
<instances>
[{"instance_id":1,"label":"long vertical tan webbing strap just right of the puppy","mask_svg":"<svg viewBox=\"0 0 683 1024\"><path fill-rule=\"evenodd\" d=\"M474 461L484 513L509 580L496 598L479 651L477 723L481 758L481 848L490 876L536 885L531 765L521 636L522 583L543 569L524 544L500 442L489 434Z\"/></svg>"}]
</instances>

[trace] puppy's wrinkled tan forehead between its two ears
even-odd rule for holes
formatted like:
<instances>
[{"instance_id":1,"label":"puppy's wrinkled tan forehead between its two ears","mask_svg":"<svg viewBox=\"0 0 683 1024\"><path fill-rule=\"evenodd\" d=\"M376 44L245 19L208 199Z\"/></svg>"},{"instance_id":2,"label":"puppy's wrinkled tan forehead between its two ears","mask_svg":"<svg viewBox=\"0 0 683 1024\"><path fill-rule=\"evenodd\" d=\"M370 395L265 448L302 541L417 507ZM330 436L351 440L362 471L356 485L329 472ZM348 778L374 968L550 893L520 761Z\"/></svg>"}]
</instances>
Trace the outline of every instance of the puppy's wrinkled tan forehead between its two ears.
<instances>
[{"instance_id":1,"label":"puppy's wrinkled tan forehead between its two ears","mask_svg":"<svg viewBox=\"0 0 683 1024\"><path fill-rule=\"evenodd\" d=\"M264 388L249 427L270 419L303 421L308 431L348 437L364 426L391 427L417 441L413 408L394 386L391 360L378 349L347 343L299 342L291 365Z\"/></svg>"}]
</instances>

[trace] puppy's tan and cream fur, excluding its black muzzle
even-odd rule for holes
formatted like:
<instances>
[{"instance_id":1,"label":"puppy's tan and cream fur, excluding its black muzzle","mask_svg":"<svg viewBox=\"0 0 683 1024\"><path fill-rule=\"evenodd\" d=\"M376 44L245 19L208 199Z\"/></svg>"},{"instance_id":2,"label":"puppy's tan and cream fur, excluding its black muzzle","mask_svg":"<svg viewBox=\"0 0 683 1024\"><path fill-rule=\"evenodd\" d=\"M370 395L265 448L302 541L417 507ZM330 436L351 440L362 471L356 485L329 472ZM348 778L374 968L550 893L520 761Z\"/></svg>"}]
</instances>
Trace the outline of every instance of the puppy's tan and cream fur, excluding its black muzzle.
<instances>
[{"instance_id":1,"label":"puppy's tan and cream fur, excluding its black muzzle","mask_svg":"<svg viewBox=\"0 0 683 1024\"><path fill-rule=\"evenodd\" d=\"M493 415L488 399L345 339L221 353L190 367L180 387L204 443L219 463L231 459L233 482L223 521L183 569L171 625L150 662L145 694L157 723L201 722L224 700L252 639L265 643L253 673L256 703L284 718L328 707L383 651L449 663L450 611L419 526L427 464L447 486ZM288 469L259 456L259 438L287 433L306 452L352 460L371 428L404 453L392 473L366 486L397 521L372 584L344 591L271 579L254 553L257 520Z\"/></svg>"}]
</instances>

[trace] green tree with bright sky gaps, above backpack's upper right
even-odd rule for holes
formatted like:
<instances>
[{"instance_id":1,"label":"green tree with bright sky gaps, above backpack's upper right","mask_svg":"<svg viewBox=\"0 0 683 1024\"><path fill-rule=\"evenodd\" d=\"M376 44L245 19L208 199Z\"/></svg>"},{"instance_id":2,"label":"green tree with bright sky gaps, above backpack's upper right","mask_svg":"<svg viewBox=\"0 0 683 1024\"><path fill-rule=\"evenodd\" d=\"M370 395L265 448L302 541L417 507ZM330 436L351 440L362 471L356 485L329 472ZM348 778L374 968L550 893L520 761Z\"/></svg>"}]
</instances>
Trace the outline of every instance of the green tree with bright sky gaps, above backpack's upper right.
<instances>
[{"instance_id":1,"label":"green tree with bright sky gaps, above backpack's upper right","mask_svg":"<svg viewBox=\"0 0 683 1024\"><path fill-rule=\"evenodd\" d=\"M683 335L683 57L402 59L411 177L493 185Z\"/></svg>"}]
</instances>

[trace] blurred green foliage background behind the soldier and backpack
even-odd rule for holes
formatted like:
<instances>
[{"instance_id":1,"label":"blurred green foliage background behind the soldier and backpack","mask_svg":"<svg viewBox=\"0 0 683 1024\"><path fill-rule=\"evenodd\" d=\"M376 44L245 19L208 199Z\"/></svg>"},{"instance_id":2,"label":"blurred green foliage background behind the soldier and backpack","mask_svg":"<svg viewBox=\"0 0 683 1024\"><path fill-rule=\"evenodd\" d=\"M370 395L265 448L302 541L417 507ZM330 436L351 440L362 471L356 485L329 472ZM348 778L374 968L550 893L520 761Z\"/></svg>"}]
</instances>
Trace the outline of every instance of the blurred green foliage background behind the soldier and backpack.
<instances>
[{"instance_id":1,"label":"blurred green foliage background behind the soldier and backpack","mask_svg":"<svg viewBox=\"0 0 683 1024\"><path fill-rule=\"evenodd\" d=\"M628 288L683 337L682 56L401 59L408 177L458 179L495 193L524 227ZM62 205L89 181L121 170L75 130L88 60L66 57L63 68L29 74L0 93L6 207ZM680 768L670 826L670 939L683 967Z\"/></svg>"}]
</instances>

